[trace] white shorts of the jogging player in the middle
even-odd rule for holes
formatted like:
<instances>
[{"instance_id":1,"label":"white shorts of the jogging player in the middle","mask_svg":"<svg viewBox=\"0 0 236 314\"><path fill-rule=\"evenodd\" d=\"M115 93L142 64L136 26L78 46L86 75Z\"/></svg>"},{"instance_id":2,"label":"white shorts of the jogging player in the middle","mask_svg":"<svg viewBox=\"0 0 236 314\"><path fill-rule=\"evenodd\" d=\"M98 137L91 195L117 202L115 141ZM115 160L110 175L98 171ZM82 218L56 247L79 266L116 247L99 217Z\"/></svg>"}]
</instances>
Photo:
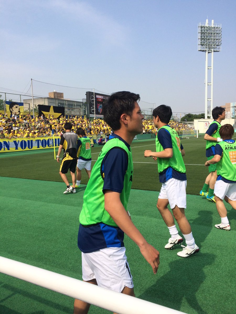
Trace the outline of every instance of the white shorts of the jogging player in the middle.
<instances>
[{"instance_id":1,"label":"white shorts of the jogging player in the middle","mask_svg":"<svg viewBox=\"0 0 236 314\"><path fill-rule=\"evenodd\" d=\"M168 199L171 209L175 208L175 205L178 208L186 208L186 186L187 180L171 178L162 183L158 198Z\"/></svg>"}]
</instances>

